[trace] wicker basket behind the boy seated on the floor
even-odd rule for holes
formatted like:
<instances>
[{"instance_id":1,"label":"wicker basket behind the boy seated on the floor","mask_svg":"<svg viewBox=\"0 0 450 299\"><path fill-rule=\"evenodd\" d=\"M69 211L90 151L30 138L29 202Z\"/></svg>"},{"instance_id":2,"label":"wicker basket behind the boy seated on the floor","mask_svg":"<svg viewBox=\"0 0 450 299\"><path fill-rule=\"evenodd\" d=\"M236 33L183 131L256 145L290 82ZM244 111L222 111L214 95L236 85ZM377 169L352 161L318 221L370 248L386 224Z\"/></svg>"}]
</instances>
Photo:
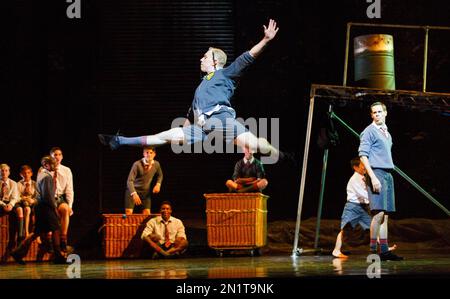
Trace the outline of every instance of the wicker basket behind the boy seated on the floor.
<instances>
[{"instance_id":1,"label":"wicker basket behind the boy seated on the floor","mask_svg":"<svg viewBox=\"0 0 450 299\"><path fill-rule=\"evenodd\" d=\"M160 214L103 214L103 254L106 258L141 257L142 231L150 218Z\"/></svg>"}]
</instances>

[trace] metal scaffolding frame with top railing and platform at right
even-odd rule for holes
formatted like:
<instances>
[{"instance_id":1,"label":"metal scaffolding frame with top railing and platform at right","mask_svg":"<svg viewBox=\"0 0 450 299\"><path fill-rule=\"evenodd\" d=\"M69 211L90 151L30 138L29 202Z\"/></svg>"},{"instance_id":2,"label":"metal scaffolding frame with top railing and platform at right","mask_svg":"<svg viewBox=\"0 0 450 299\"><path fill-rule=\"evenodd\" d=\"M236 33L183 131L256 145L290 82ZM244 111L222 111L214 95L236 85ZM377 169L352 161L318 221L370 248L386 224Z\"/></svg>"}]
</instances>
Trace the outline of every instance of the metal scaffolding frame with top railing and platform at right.
<instances>
[{"instance_id":1,"label":"metal scaffolding frame with top railing and platform at right","mask_svg":"<svg viewBox=\"0 0 450 299\"><path fill-rule=\"evenodd\" d=\"M364 88L364 87L347 87L347 73L348 73L348 56L350 49L350 33L352 27L383 27L383 28L401 28L401 29L412 29L412 30L424 30L424 54L423 54L423 71L422 71L422 91L411 91L411 90L383 90L374 88ZM344 57L344 76L342 86L336 85L319 85L312 84L310 91L310 104L308 112L308 121L306 128L306 140L305 140L305 150L303 153L303 166L302 175L300 180L300 191L298 199L298 209L297 209L297 221L295 225L295 237L294 246L292 250L292 255L300 255L303 250L298 247L298 241L300 237L300 223L301 223L301 213L303 206L303 197L305 192L305 182L306 182L306 170L308 165L308 154L309 154L309 144L311 140L311 129L312 129L312 119L314 114L314 99L316 97L324 98L329 103L328 113L333 115L333 101L383 101L385 103L395 104L397 106L407 107L408 109L417 109L419 111L438 111L450 113L450 94L449 93L437 93L437 92L427 92L427 67L428 67L428 44L429 44L429 31L430 30L448 30L450 27L443 26L416 26L416 25L396 25L396 24L372 24L372 23L347 23L347 33L345 42L345 57ZM350 128L351 129L351 128ZM354 134L357 134L354 132ZM319 208L317 211L317 225L316 225L316 237L314 241L314 248L317 249L319 242L319 230L320 230L320 219L322 213L322 202L323 195L325 192L325 178L328 164L328 149L324 150L323 155L323 166L322 166L322 176L321 176L321 188L319 195ZM404 177L408 182L410 182L415 188L422 192L426 197L438 205L447 215L450 216L450 212L440 205L437 200L435 200L431 195L429 195L423 188L417 185L411 178L409 178L403 171L396 167L395 171ZM415 186L416 184L417 186ZM436 203L437 202L437 203Z\"/></svg>"}]
</instances>

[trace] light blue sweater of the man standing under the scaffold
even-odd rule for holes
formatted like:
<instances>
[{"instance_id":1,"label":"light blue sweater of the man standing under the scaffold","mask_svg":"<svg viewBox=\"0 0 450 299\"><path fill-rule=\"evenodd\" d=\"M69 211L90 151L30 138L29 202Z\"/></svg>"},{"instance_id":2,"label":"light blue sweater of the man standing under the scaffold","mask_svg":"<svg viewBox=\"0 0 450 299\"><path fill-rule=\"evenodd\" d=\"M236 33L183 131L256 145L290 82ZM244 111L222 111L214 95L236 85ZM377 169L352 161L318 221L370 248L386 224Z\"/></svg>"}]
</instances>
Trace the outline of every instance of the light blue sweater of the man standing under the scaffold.
<instances>
[{"instance_id":1,"label":"light blue sweater of the man standing under the scaffold","mask_svg":"<svg viewBox=\"0 0 450 299\"><path fill-rule=\"evenodd\" d=\"M393 169L392 137L385 137L373 123L367 126L360 136L359 156L366 156L372 168Z\"/></svg>"}]
</instances>

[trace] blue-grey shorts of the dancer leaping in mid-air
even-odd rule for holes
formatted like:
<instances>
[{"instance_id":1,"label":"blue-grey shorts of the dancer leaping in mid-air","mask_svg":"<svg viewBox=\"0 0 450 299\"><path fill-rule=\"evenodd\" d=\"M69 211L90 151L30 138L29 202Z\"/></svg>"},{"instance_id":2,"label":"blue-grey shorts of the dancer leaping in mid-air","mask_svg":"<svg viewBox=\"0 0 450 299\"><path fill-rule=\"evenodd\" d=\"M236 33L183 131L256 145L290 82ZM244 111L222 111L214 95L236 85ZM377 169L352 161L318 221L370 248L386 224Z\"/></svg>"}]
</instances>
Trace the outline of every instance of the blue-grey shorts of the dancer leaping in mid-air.
<instances>
[{"instance_id":1,"label":"blue-grey shorts of the dancer leaping in mid-air","mask_svg":"<svg viewBox=\"0 0 450 299\"><path fill-rule=\"evenodd\" d=\"M208 134L213 131L229 143L248 130L234 118L234 114L230 111L214 113L202 127L195 124L183 127L184 138L187 144L204 141Z\"/></svg>"}]
</instances>

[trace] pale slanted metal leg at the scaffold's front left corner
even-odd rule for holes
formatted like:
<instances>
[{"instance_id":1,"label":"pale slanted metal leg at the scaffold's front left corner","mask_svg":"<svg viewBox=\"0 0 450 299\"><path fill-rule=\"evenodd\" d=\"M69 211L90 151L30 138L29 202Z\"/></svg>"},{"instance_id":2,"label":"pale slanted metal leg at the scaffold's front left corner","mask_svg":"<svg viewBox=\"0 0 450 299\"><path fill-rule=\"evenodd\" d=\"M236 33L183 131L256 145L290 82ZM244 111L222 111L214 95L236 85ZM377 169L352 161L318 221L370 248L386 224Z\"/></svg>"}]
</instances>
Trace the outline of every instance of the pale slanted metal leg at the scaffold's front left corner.
<instances>
[{"instance_id":1,"label":"pale slanted metal leg at the scaffold's front left corner","mask_svg":"<svg viewBox=\"0 0 450 299\"><path fill-rule=\"evenodd\" d=\"M309 152L309 142L311 140L311 129L312 129L312 119L314 112L314 94L315 88L311 88L311 95L309 100L309 112L308 112L308 123L306 126L306 140L305 140L305 151L303 153L303 166L302 166L302 177L300 182L300 192L298 195L298 208L297 208L297 222L295 224L295 237L294 237L294 248L292 250L292 254L298 255L298 240L300 237L300 222L302 215L302 206L303 206L303 196L305 193L305 180L306 180L306 168L308 165L308 152Z\"/></svg>"}]
</instances>

